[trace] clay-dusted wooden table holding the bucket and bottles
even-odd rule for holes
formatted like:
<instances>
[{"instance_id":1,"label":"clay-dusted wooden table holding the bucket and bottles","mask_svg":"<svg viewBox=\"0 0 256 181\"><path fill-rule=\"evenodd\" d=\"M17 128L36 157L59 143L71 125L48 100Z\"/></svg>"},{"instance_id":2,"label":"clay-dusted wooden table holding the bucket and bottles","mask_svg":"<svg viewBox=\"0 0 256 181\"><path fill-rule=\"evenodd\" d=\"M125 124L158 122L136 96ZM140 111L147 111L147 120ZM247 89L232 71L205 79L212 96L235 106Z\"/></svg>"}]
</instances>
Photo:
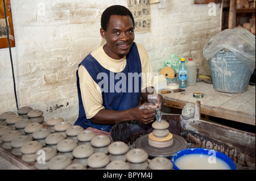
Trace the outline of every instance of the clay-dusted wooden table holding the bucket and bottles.
<instances>
[{"instance_id":1,"label":"clay-dusted wooden table holding the bucket and bottles","mask_svg":"<svg viewBox=\"0 0 256 181\"><path fill-rule=\"evenodd\" d=\"M204 97L193 98L193 92L203 92ZM197 82L195 86L185 88L184 92L172 91L161 95L165 99L164 106L183 109L186 103L200 100L201 114L255 125L255 86L249 85L247 91L231 94L214 90L210 83Z\"/></svg>"}]
</instances>

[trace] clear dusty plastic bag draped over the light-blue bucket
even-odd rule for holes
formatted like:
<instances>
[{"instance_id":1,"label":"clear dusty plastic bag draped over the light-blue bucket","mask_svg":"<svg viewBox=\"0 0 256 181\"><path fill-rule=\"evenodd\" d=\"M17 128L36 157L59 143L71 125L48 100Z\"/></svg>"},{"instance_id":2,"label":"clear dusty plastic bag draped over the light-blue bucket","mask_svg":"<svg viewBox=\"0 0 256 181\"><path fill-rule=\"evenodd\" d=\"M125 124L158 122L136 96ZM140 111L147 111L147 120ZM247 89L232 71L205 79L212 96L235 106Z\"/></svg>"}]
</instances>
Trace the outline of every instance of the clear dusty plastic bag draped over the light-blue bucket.
<instances>
[{"instance_id":1,"label":"clear dusty plastic bag draped over the light-blue bucket","mask_svg":"<svg viewBox=\"0 0 256 181\"><path fill-rule=\"evenodd\" d=\"M230 50L253 73L255 69L255 35L245 28L226 29L210 38L203 49L209 60L221 50Z\"/></svg>"}]
</instances>

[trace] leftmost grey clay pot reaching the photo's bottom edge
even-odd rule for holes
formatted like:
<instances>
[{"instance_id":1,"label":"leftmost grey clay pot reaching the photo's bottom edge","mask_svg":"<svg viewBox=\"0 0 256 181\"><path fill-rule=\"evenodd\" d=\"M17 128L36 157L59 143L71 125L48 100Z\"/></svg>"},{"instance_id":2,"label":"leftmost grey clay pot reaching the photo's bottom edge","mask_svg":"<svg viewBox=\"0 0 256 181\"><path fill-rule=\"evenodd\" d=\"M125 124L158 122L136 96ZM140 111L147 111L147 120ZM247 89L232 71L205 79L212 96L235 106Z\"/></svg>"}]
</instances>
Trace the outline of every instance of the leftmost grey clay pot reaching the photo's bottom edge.
<instances>
[{"instance_id":1,"label":"leftmost grey clay pot reaching the photo's bottom edge","mask_svg":"<svg viewBox=\"0 0 256 181\"><path fill-rule=\"evenodd\" d=\"M35 167L38 170L48 170L48 162L57 155L53 148L44 147L34 154Z\"/></svg>"}]
</instances>

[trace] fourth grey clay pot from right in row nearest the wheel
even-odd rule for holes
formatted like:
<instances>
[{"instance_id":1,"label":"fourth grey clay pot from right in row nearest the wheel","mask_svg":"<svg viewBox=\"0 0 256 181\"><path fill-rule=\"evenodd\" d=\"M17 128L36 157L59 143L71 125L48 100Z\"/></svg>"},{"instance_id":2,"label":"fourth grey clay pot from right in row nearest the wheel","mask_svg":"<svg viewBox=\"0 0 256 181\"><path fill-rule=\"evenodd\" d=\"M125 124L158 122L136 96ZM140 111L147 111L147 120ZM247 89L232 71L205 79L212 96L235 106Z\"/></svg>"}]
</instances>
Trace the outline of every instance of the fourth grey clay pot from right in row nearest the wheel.
<instances>
[{"instance_id":1,"label":"fourth grey clay pot from right in row nearest the wheel","mask_svg":"<svg viewBox=\"0 0 256 181\"><path fill-rule=\"evenodd\" d=\"M110 144L111 140L108 136L104 134L97 135L96 137L92 138L90 144L94 149L94 153L101 152L108 154L108 145Z\"/></svg>"}]
</instances>

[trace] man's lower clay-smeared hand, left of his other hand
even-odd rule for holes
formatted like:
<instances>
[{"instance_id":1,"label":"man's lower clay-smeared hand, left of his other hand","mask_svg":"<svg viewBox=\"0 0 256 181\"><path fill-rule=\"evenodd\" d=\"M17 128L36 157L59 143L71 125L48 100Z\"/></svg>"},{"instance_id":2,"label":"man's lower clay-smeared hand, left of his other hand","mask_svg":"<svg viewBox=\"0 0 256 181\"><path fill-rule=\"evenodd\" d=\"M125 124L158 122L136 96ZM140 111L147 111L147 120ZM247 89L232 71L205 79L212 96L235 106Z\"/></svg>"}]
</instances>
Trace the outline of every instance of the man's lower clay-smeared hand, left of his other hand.
<instances>
[{"instance_id":1,"label":"man's lower clay-smeared hand, left of his other hand","mask_svg":"<svg viewBox=\"0 0 256 181\"><path fill-rule=\"evenodd\" d=\"M133 116L134 120L138 120L141 123L148 124L155 119L155 108L157 106L152 103L144 103L134 108Z\"/></svg>"}]
</instances>

